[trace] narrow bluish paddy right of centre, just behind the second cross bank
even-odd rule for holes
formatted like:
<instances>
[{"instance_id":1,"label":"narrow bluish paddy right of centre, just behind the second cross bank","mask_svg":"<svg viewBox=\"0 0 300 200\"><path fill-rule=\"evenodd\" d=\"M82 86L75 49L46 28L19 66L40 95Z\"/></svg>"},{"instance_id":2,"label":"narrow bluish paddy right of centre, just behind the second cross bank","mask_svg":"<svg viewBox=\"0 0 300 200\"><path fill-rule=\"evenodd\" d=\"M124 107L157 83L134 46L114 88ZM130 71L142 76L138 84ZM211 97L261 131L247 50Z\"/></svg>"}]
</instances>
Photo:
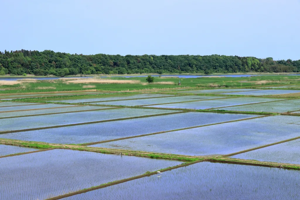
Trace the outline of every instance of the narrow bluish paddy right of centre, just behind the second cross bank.
<instances>
[{"instance_id":1,"label":"narrow bluish paddy right of centre, just behind the second cross bank","mask_svg":"<svg viewBox=\"0 0 300 200\"><path fill-rule=\"evenodd\" d=\"M268 101L284 100L283 98L271 98L271 97L235 97L226 99L214 99L205 101L194 101L186 103L172 103L172 104L161 104L146 107L156 108L178 108L178 109L211 109L224 106L235 106L241 104L260 103Z\"/></svg>"}]
</instances>

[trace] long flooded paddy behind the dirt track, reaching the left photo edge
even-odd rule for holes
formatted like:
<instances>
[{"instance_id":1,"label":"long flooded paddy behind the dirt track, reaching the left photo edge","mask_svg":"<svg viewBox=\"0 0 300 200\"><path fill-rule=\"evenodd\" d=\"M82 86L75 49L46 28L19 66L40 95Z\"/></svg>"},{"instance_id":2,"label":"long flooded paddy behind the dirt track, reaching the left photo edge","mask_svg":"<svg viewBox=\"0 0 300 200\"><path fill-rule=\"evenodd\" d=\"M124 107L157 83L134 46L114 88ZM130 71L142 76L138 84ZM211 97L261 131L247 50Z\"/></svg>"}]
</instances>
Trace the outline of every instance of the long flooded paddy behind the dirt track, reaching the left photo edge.
<instances>
[{"instance_id":1,"label":"long flooded paddy behind the dirt track, reaching the left photo edge","mask_svg":"<svg viewBox=\"0 0 300 200\"><path fill-rule=\"evenodd\" d=\"M241 120L256 116L258 115L186 112L97 124L7 133L2 134L1 138L57 144L82 144L232 120Z\"/></svg>"}]
</instances>

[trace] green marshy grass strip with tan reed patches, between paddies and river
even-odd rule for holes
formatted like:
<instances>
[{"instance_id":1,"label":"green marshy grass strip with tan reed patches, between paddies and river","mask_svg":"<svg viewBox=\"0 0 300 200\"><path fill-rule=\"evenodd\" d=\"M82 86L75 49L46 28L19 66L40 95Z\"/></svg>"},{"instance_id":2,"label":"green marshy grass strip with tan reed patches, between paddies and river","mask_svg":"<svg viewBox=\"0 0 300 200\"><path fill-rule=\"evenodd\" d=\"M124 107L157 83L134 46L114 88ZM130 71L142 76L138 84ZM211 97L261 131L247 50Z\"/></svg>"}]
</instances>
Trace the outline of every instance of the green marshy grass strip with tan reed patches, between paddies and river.
<instances>
[{"instance_id":1,"label":"green marshy grass strip with tan reed patches, between paddies and river","mask_svg":"<svg viewBox=\"0 0 300 200\"><path fill-rule=\"evenodd\" d=\"M256 88L265 85L300 84L300 76L253 76L253 77L201 77L201 78L159 78L155 77L152 84L147 84L145 77L112 77L95 78L110 79L116 81L137 81L138 83L66 83L62 80L37 80L36 82L20 82L15 85L0 83L0 94L27 93L27 92L50 92L50 91L79 91L79 90L101 90L101 91L139 91L151 89L178 89L178 88ZM178 82L181 85L178 85ZM162 84L161 82L173 82L173 84ZM84 87L92 85L91 88Z\"/></svg>"}]
</instances>

